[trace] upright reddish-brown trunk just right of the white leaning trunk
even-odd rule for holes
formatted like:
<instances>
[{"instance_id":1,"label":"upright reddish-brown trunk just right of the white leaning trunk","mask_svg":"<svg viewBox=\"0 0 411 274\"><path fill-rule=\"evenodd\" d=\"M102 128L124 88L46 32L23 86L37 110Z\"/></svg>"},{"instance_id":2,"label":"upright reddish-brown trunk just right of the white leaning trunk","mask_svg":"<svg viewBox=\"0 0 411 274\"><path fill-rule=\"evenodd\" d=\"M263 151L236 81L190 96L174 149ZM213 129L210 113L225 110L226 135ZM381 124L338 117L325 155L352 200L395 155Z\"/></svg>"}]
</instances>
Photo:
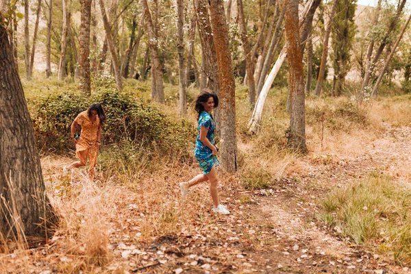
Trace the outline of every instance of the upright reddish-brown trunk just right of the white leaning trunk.
<instances>
[{"instance_id":1,"label":"upright reddish-brown trunk just right of the white leaning trunk","mask_svg":"<svg viewBox=\"0 0 411 274\"><path fill-rule=\"evenodd\" d=\"M304 99L303 53L301 51L298 21L298 0L286 0L286 37L288 65L288 84L290 92L290 135L288 145L307 152L306 108Z\"/></svg>"}]
</instances>

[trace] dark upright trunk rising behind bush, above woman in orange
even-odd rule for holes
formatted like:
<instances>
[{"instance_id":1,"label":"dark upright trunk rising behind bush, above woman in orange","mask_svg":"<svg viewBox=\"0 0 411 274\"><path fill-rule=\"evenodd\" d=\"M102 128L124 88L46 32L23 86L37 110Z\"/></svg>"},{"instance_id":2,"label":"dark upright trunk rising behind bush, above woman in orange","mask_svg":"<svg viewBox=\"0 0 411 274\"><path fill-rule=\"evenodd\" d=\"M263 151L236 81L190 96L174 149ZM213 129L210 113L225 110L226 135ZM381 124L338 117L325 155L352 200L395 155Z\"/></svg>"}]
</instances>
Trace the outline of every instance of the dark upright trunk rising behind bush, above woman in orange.
<instances>
[{"instance_id":1,"label":"dark upright trunk rising behind bush, above woman in orange","mask_svg":"<svg viewBox=\"0 0 411 274\"><path fill-rule=\"evenodd\" d=\"M90 24L91 24L91 0L81 2L81 25L79 39L79 65L80 65L80 88L84 95L91 95L90 75ZM103 13L103 12L102 12ZM104 12L105 13L105 12Z\"/></svg>"}]
</instances>

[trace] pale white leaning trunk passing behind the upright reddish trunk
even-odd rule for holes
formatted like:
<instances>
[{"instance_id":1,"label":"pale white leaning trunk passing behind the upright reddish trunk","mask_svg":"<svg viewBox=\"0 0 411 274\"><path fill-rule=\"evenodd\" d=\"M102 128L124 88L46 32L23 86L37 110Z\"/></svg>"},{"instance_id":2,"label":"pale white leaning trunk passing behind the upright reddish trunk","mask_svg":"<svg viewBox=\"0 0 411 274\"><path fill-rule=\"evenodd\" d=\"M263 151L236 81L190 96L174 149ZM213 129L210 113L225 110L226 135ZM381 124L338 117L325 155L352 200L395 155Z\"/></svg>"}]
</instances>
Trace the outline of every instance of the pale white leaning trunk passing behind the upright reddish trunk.
<instances>
[{"instance_id":1,"label":"pale white leaning trunk passing behind the upright reddish trunk","mask_svg":"<svg viewBox=\"0 0 411 274\"><path fill-rule=\"evenodd\" d=\"M302 25L303 22L306 20L306 15L308 14L308 10L310 9L312 3L313 3L313 0L310 0L308 1L308 3L306 3L306 6L304 7L304 10L301 14L301 23L299 25ZM271 69L271 73L269 74L269 77L267 77L266 82L264 83L264 86L262 87L260 95L258 96L256 106L254 107L254 110L253 110L253 115L251 116L251 119L249 121L249 132L250 133L255 134L258 131L258 128L260 127L262 110L264 109L265 99L267 95L269 94L271 84L273 84L274 79L277 76L279 69L281 68L284 60L286 60L286 57L287 57L287 50L286 50L286 45L284 45L282 51L279 53L277 61L275 62L273 66L273 69Z\"/></svg>"}]
</instances>

